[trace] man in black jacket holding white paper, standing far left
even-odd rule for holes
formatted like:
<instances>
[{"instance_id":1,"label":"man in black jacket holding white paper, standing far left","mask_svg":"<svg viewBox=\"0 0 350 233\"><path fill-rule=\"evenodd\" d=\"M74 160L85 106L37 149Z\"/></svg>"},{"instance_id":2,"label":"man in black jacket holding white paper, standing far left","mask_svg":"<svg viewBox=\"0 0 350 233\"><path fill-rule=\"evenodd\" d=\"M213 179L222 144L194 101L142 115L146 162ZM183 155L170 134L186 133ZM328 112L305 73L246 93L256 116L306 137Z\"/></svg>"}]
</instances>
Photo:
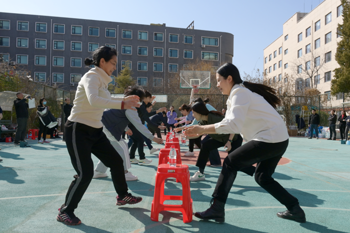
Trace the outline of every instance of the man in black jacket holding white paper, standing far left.
<instances>
[{"instance_id":1,"label":"man in black jacket holding white paper, standing far left","mask_svg":"<svg viewBox=\"0 0 350 233\"><path fill-rule=\"evenodd\" d=\"M16 93L17 99L13 101L14 108L16 110L16 119L17 119L17 130L16 136L14 138L14 145L19 145L19 141L24 141L25 132L26 132L26 123L28 121L28 103L27 99L31 99L30 96L23 98L23 93Z\"/></svg>"}]
</instances>

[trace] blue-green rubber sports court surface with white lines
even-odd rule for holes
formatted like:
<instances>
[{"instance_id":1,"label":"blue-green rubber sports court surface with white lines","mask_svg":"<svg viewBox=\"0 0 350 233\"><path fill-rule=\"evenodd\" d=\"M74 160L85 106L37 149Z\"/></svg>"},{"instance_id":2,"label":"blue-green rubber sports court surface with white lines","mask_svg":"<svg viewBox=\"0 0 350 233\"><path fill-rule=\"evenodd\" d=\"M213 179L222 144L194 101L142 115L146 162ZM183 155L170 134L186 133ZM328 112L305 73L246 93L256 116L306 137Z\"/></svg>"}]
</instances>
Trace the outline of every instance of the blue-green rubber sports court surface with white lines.
<instances>
[{"instance_id":1,"label":"blue-green rubber sports court surface with white lines","mask_svg":"<svg viewBox=\"0 0 350 233\"><path fill-rule=\"evenodd\" d=\"M225 222L202 221L193 216L183 223L180 212L163 211L159 221L150 220L154 194L156 155L149 165L132 164L137 181L128 181L133 195L143 200L135 205L115 205L116 193L108 177L93 179L75 210L82 224L68 226L56 221L68 185L75 174L60 139L49 144L28 140L31 148L0 143L0 232L350 232L350 146L339 141L291 137L273 177L297 197L306 223L285 220L276 212L285 207L260 188L254 178L238 173L225 205ZM161 145L154 145L163 148ZM181 146L184 152L188 148ZM223 148L220 148L223 151ZM183 153L182 153L183 155ZM136 157L137 158L137 157ZM182 157L191 175L193 160ZM96 164L97 159L93 156ZM205 168L206 180L191 182L193 212L209 207L221 167ZM181 194L175 179L165 182L165 193ZM168 201L166 203L176 203Z\"/></svg>"}]
</instances>

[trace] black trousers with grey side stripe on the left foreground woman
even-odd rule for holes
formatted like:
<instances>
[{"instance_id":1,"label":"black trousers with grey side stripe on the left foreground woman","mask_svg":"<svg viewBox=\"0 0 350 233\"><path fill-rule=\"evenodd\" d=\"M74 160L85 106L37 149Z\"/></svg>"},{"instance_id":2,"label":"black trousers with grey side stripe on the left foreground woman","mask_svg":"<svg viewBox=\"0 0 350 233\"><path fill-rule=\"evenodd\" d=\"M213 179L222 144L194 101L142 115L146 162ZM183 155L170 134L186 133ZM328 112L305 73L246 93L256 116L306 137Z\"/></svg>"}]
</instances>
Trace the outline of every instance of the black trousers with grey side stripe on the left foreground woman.
<instances>
[{"instance_id":1,"label":"black trousers with grey side stripe on the left foreground woman","mask_svg":"<svg viewBox=\"0 0 350 233\"><path fill-rule=\"evenodd\" d=\"M91 182L93 176L91 153L110 168L116 193L119 196L127 194L123 160L102 132L102 128L97 129L67 120L65 123L65 144L71 164L77 174L73 176L74 180L68 188L61 210L74 211Z\"/></svg>"}]
</instances>

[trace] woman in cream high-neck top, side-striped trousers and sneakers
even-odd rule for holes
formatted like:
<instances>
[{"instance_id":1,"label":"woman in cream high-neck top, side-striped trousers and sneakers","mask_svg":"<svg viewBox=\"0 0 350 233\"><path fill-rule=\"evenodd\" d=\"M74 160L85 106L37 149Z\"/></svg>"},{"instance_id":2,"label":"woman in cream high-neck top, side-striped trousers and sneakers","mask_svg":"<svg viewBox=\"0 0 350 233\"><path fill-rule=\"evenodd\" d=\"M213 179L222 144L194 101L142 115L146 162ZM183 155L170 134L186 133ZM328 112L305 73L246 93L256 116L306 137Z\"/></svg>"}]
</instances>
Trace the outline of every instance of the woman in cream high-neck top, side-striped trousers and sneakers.
<instances>
[{"instance_id":1,"label":"woman in cream high-neck top, side-striped trousers and sneakers","mask_svg":"<svg viewBox=\"0 0 350 233\"><path fill-rule=\"evenodd\" d=\"M74 215L74 209L93 176L91 153L110 167L111 178L118 194L117 205L135 204L142 200L141 197L127 192L123 160L102 132L101 118L104 109L132 109L140 106L137 103L138 96L111 97L107 90L108 83L112 80L110 76L116 70L116 56L115 49L102 46L93 52L92 59L85 59L85 65L94 65L94 68L81 78L74 106L65 123L65 144L77 174L68 188L64 204L58 209L56 219L68 225L81 223Z\"/></svg>"}]
</instances>

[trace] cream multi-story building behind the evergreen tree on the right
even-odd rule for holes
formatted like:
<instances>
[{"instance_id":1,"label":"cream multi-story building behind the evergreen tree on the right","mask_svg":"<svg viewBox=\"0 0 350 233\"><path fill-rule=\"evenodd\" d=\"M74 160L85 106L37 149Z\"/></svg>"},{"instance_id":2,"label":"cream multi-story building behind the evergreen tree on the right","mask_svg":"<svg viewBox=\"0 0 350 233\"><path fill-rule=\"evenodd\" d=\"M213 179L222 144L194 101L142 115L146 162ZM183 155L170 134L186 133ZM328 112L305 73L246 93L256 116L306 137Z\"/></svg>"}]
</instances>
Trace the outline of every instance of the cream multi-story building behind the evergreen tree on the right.
<instances>
[{"instance_id":1,"label":"cream multi-story building behind the evergreen tree on the right","mask_svg":"<svg viewBox=\"0 0 350 233\"><path fill-rule=\"evenodd\" d=\"M296 90L312 87L330 93L333 71L339 67L338 24L342 24L340 0L324 0L309 13L293 15L283 24L283 34L263 50L265 81L287 82L284 74L288 74L295 78ZM342 94L335 99L342 100Z\"/></svg>"}]
</instances>

